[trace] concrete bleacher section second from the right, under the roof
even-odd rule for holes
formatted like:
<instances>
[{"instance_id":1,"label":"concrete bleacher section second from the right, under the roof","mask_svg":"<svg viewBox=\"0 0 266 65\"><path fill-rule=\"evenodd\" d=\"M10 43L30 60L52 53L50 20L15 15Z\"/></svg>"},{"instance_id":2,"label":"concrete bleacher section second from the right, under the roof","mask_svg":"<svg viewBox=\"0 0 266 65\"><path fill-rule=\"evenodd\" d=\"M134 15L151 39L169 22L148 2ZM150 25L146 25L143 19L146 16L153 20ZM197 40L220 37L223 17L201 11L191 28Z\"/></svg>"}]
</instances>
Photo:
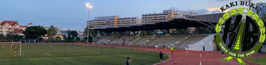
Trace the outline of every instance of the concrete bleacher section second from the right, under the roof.
<instances>
[{"instance_id":1,"label":"concrete bleacher section second from the right, under the roof","mask_svg":"<svg viewBox=\"0 0 266 65\"><path fill-rule=\"evenodd\" d=\"M184 36L175 36L175 37L171 37L171 36L160 36L157 37L155 40L153 40L152 42L148 43L147 46L151 46L151 47L155 47L156 44L159 44L159 47L163 47L163 45L165 45L165 47L167 47L168 44L174 43L177 40L183 38Z\"/></svg>"}]
</instances>

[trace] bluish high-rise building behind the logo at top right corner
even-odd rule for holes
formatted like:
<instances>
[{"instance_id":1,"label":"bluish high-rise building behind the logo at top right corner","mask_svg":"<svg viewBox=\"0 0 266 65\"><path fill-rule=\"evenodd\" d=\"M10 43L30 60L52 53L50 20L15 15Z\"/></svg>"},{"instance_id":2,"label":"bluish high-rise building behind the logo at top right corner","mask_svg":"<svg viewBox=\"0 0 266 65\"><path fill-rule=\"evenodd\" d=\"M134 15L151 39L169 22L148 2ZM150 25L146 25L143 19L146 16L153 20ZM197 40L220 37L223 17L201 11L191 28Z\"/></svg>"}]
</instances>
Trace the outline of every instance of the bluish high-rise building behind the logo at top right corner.
<instances>
[{"instance_id":1,"label":"bluish high-rise building behind the logo at top right corner","mask_svg":"<svg viewBox=\"0 0 266 65\"><path fill-rule=\"evenodd\" d=\"M256 3L256 6L258 6L257 9L253 9L252 8L252 11L254 13L257 13L259 15L259 17L261 17L263 14L265 15L265 13L266 13L266 3ZM256 7L254 7L254 8L256 8ZM260 10L260 8L261 8L261 10Z\"/></svg>"}]
</instances>

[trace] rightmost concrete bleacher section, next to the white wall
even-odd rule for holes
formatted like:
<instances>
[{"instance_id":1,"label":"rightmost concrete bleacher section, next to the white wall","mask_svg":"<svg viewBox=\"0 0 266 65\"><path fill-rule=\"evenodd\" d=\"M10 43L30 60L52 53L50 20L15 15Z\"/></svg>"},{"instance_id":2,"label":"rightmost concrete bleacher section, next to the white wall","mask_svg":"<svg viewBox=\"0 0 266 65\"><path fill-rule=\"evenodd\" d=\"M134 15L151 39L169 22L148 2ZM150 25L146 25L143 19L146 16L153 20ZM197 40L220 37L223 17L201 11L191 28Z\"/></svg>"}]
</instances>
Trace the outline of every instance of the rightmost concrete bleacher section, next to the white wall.
<instances>
[{"instance_id":1,"label":"rightmost concrete bleacher section, next to the white wall","mask_svg":"<svg viewBox=\"0 0 266 65\"><path fill-rule=\"evenodd\" d=\"M207 35L208 34L194 35L194 36L190 37L189 39L185 40L185 42L178 44L177 47L175 47L175 48L176 49L185 50L186 44L188 44L188 43L195 43L195 42L199 41L200 39L204 38Z\"/></svg>"}]
</instances>

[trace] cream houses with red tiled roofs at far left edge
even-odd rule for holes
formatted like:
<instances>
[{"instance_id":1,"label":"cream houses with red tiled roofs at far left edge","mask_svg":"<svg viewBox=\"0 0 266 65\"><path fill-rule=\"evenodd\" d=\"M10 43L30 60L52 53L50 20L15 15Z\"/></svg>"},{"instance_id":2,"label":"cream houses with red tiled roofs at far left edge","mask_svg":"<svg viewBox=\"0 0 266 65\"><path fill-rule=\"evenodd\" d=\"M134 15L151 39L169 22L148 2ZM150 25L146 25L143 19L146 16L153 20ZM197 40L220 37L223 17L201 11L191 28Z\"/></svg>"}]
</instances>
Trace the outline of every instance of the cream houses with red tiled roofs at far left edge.
<instances>
[{"instance_id":1,"label":"cream houses with red tiled roofs at far left edge","mask_svg":"<svg viewBox=\"0 0 266 65\"><path fill-rule=\"evenodd\" d=\"M29 23L28 25L20 26L18 21L0 21L0 34L6 35L9 32L17 29L25 30L27 27L30 27L32 25L32 23Z\"/></svg>"}]
</instances>

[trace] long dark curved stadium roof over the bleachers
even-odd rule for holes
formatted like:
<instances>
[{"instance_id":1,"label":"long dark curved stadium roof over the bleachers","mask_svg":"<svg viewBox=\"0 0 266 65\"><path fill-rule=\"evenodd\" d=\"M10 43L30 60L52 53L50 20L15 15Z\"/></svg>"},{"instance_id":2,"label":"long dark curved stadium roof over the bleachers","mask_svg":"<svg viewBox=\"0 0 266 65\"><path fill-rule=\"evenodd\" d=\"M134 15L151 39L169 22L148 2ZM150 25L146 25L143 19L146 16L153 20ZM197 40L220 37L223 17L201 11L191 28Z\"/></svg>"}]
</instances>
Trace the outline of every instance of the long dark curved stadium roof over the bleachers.
<instances>
[{"instance_id":1,"label":"long dark curved stadium roof over the bleachers","mask_svg":"<svg viewBox=\"0 0 266 65\"><path fill-rule=\"evenodd\" d=\"M126 25L126 26L112 26L112 27L99 27L90 28L90 30L98 30L105 32L124 32L124 31L142 31L142 30L169 30L169 29L187 29L189 27L208 27L216 25L220 17L224 13L193 15L185 17L173 17L169 21L158 21L152 23L144 23L139 25ZM235 21L236 15L232 16L232 21ZM208 25L208 26L207 26Z\"/></svg>"}]
</instances>

